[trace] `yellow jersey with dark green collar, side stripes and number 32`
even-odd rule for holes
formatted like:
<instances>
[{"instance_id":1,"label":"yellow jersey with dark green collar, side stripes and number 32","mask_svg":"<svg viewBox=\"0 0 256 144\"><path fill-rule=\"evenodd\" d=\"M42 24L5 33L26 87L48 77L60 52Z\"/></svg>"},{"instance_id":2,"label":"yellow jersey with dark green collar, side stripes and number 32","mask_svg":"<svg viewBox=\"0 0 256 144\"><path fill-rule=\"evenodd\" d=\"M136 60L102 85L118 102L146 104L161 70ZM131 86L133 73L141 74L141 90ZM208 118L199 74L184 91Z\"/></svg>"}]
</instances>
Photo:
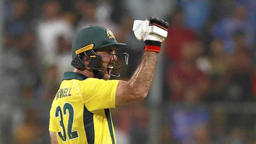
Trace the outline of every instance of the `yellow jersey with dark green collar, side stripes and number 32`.
<instances>
[{"instance_id":1,"label":"yellow jersey with dark green collar, side stripes and number 32","mask_svg":"<svg viewBox=\"0 0 256 144\"><path fill-rule=\"evenodd\" d=\"M59 144L116 144L109 108L115 108L118 82L64 73L49 124Z\"/></svg>"}]
</instances>

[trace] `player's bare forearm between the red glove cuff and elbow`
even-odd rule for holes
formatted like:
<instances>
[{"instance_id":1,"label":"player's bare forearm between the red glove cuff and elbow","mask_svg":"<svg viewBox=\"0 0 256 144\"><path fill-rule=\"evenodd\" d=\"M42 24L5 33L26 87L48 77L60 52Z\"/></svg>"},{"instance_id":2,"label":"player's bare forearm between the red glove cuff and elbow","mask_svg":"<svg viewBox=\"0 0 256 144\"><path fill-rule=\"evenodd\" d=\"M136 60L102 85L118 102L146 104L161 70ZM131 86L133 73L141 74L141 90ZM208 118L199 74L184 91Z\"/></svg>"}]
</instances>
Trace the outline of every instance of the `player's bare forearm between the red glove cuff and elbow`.
<instances>
[{"instance_id":1,"label":"player's bare forearm between the red glove cuff and elbow","mask_svg":"<svg viewBox=\"0 0 256 144\"><path fill-rule=\"evenodd\" d=\"M152 51L145 51L143 53L141 63L135 70L134 75L128 81L129 92L134 95L145 95L153 83L158 53Z\"/></svg>"}]
</instances>

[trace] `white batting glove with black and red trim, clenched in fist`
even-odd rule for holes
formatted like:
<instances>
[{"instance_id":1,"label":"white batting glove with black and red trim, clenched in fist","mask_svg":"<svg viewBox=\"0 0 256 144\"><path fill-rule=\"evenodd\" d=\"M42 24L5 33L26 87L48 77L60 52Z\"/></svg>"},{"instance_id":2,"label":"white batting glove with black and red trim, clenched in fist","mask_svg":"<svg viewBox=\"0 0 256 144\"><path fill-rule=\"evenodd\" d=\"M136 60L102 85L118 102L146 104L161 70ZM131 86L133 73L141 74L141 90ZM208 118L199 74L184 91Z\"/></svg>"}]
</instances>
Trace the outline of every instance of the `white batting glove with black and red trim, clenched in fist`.
<instances>
[{"instance_id":1,"label":"white batting glove with black and red trim, clenched in fist","mask_svg":"<svg viewBox=\"0 0 256 144\"><path fill-rule=\"evenodd\" d=\"M133 31L139 41L145 42L145 50L160 52L161 42L167 37L168 22L148 17L145 21L134 20Z\"/></svg>"}]
</instances>

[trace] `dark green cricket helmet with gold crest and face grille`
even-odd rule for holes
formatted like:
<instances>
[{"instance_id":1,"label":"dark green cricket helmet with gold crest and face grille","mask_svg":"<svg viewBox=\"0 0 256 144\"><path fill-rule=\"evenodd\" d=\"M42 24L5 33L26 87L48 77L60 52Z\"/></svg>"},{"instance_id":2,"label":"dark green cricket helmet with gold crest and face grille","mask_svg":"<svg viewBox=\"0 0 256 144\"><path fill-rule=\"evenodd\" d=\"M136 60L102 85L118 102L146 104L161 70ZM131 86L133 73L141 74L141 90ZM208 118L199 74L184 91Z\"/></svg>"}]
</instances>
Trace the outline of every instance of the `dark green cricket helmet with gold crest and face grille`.
<instances>
[{"instance_id":1,"label":"dark green cricket helmet with gold crest and face grille","mask_svg":"<svg viewBox=\"0 0 256 144\"><path fill-rule=\"evenodd\" d=\"M96 52L100 49L114 46L116 48L124 47L126 44L116 41L113 33L103 26L88 26L82 29L74 37L72 42L72 62L71 65L80 70L84 70L85 66L104 72L105 68L111 68L111 76L120 76L124 68L128 65L128 54L111 54L98 55ZM100 61L102 57L116 56L117 61L113 65L101 67ZM86 58L84 58L86 57ZM84 62L88 61L86 65Z\"/></svg>"}]
</instances>

